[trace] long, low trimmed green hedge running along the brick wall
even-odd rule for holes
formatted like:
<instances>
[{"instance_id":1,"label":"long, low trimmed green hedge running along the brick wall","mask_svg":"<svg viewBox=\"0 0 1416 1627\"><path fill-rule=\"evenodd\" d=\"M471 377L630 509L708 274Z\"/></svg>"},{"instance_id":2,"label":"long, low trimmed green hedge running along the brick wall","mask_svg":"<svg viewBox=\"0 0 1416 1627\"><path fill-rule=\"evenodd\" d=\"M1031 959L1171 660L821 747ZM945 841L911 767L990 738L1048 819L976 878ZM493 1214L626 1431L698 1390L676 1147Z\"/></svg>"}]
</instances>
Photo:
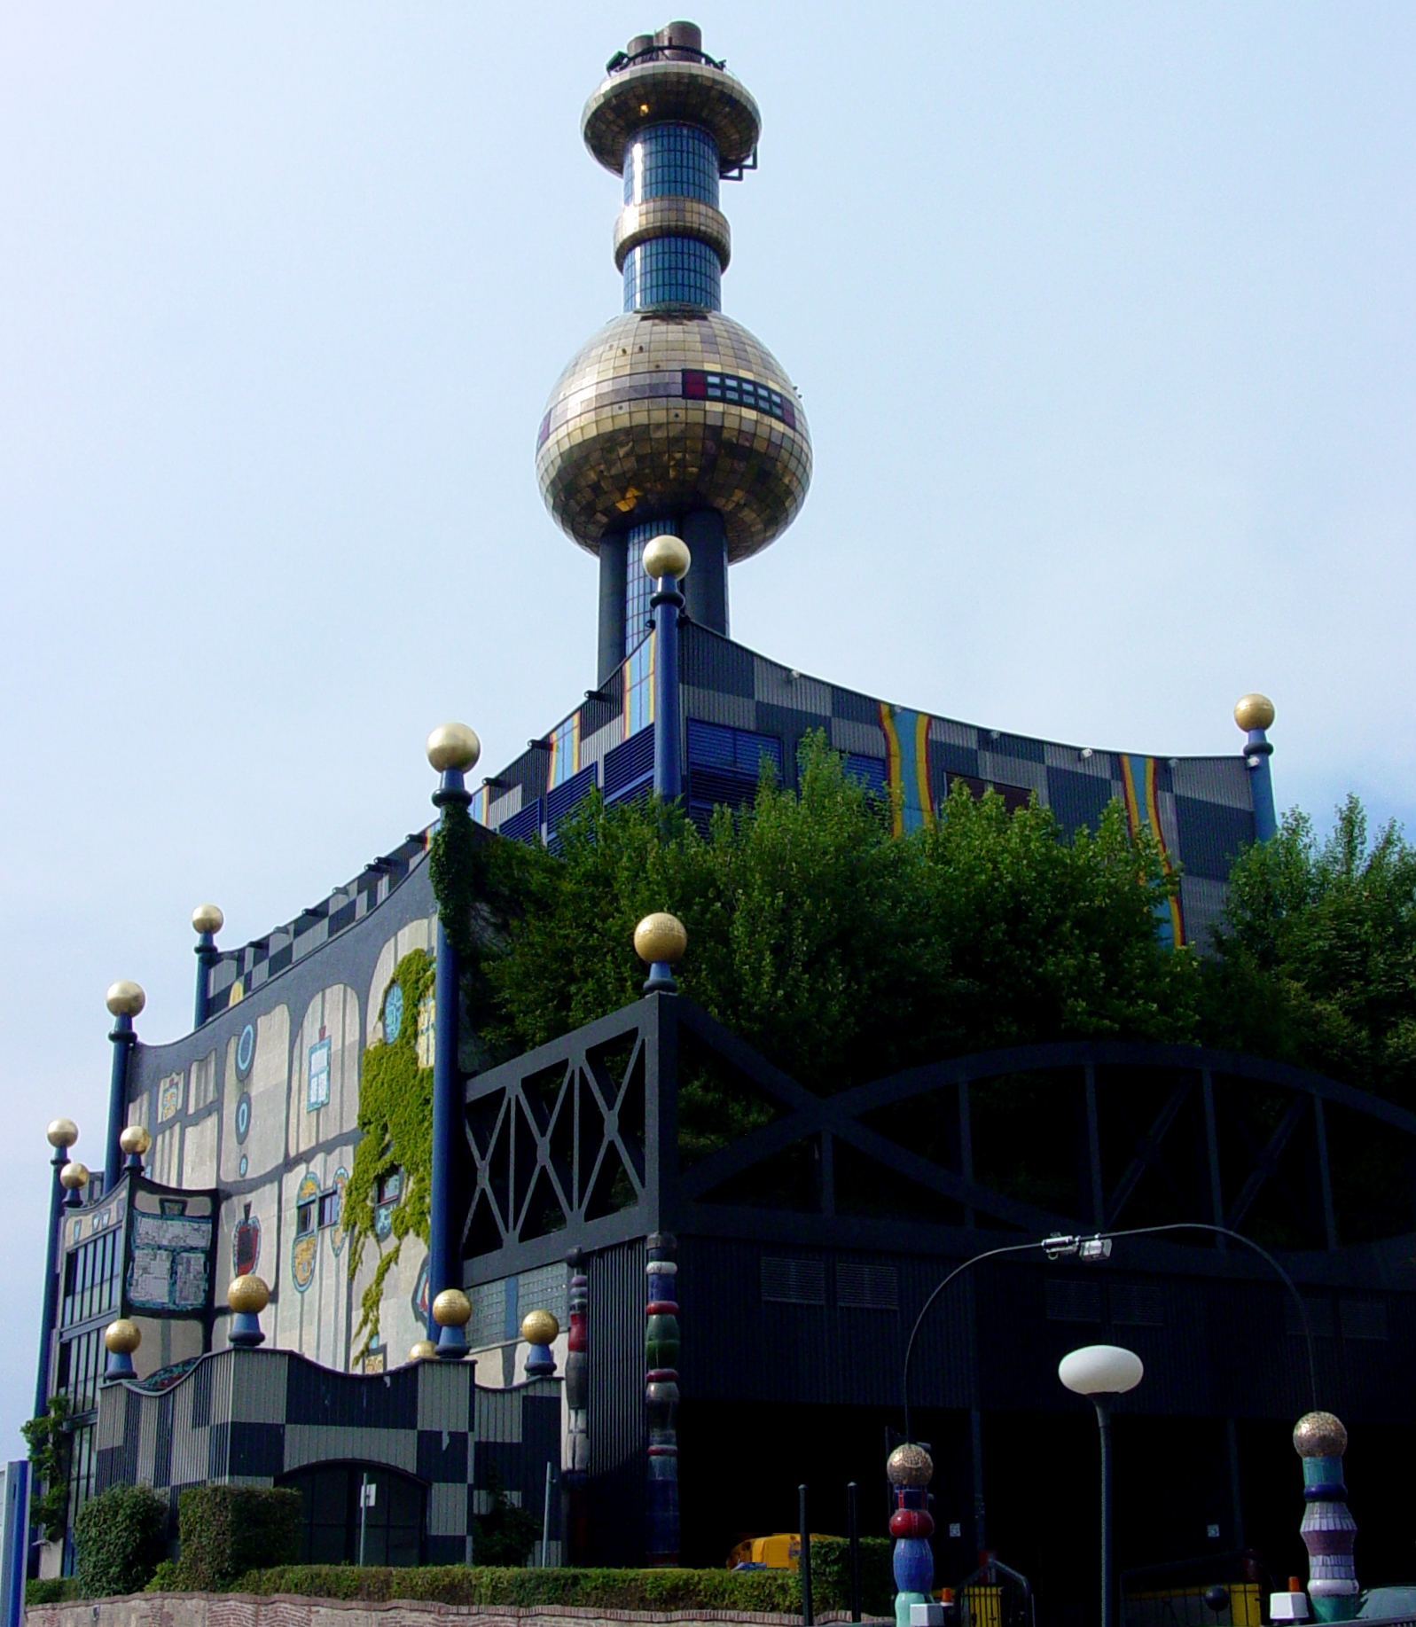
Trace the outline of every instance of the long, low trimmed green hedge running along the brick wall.
<instances>
[{"instance_id":1,"label":"long, low trimmed green hedge running along the brick wall","mask_svg":"<svg viewBox=\"0 0 1416 1627\"><path fill-rule=\"evenodd\" d=\"M864 1544L863 1544L864 1546ZM812 1552L815 1554L815 1547ZM509 1570L496 1565L283 1565L252 1570L234 1593L296 1593L317 1599L420 1599L439 1604L570 1604L617 1611L754 1611L801 1616L791 1570ZM841 1609L822 1598L819 1609Z\"/></svg>"}]
</instances>

